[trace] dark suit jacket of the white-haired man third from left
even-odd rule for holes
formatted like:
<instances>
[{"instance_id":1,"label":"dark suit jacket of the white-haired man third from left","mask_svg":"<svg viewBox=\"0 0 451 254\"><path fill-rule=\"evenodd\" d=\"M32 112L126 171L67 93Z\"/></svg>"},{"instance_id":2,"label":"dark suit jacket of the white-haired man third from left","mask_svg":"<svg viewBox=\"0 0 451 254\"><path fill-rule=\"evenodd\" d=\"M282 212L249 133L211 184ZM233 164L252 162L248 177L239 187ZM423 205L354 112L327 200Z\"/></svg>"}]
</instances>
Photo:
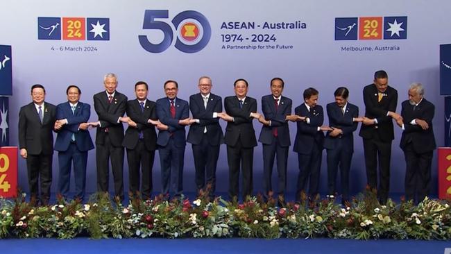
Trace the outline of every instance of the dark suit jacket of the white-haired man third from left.
<instances>
[{"instance_id":1,"label":"dark suit jacket of the white-haired man third from left","mask_svg":"<svg viewBox=\"0 0 451 254\"><path fill-rule=\"evenodd\" d=\"M114 92L112 103L108 102L106 92L94 94L94 109L99 116L101 126L96 130L96 144L105 144L105 128L108 128L110 142L113 146L122 146L124 140L124 126L117 122L124 117L127 108L127 96Z\"/></svg>"}]
</instances>

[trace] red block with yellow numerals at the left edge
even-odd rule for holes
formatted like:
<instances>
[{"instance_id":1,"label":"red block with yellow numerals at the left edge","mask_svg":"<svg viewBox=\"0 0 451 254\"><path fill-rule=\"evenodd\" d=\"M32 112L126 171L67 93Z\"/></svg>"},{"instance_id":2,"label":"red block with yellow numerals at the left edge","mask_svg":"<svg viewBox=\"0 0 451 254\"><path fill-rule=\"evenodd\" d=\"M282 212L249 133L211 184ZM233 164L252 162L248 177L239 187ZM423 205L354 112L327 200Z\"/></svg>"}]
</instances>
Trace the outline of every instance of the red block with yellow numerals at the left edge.
<instances>
[{"instance_id":1,"label":"red block with yellow numerals at the left edge","mask_svg":"<svg viewBox=\"0 0 451 254\"><path fill-rule=\"evenodd\" d=\"M0 147L0 197L17 196L17 146Z\"/></svg>"}]
</instances>

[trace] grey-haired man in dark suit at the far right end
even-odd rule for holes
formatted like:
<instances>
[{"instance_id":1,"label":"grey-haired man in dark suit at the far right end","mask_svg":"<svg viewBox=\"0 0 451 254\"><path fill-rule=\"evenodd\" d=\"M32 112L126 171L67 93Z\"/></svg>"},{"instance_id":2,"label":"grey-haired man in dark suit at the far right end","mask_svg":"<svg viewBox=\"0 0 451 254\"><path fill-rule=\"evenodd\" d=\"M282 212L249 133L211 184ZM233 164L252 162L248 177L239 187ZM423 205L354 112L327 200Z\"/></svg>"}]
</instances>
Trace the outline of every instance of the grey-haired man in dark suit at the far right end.
<instances>
[{"instance_id":1,"label":"grey-haired man in dark suit at the far right end","mask_svg":"<svg viewBox=\"0 0 451 254\"><path fill-rule=\"evenodd\" d=\"M405 189L407 200L421 202L429 195L432 153L436 149L432 119L434 104L427 101L420 83L409 87L409 99L402 102L400 147L406 160Z\"/></svg>"}]
</instances>

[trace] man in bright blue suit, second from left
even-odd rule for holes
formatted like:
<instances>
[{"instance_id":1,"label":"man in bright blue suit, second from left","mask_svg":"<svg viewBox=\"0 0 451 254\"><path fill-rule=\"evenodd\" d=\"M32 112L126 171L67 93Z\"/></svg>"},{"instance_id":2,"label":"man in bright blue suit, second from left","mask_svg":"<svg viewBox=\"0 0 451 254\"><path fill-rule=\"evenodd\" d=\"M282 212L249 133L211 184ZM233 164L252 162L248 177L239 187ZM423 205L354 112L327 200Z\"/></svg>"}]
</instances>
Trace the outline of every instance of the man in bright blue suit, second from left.
<instances>
[{"instance_id":1,"label":"man in bright blue suit, second from left","mask_svg":"<svg viewBox=\"0 0 451 254\"><path fill-rule=\"evenodd\" d=\"M67 102L56 107L55 130L58 133L55 150L58 151L60 175L58 192L67 197L70 187L71 164L74 163L75 196L83 201L85 197L87 151L94 149L87 121L91 106L80 101L81 90L69 85L66 90Z\"/></svg>"}]
</instances>

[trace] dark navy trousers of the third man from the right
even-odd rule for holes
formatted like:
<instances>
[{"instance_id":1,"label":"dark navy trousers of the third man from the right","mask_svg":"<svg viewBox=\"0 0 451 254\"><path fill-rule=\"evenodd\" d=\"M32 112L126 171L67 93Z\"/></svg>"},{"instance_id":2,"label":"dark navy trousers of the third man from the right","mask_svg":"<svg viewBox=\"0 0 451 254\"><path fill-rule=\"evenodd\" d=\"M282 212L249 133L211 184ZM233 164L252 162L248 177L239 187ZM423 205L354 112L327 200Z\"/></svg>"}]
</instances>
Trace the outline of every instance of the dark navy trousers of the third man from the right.
<instances>
[{"instance_id":1,"label":"dark navy trousers of the third man from the right","mask_svg":"<svg viewBox=\"0 0 451 254\"><path fill-rule=\"evenodd\" d=\"M349 170L352 160L352 148L339 139L335 140L334 149L327 149L327 194L337 193L337 171L340 169L341 198L349 200Z\"/></svg>"}]
</instances>

